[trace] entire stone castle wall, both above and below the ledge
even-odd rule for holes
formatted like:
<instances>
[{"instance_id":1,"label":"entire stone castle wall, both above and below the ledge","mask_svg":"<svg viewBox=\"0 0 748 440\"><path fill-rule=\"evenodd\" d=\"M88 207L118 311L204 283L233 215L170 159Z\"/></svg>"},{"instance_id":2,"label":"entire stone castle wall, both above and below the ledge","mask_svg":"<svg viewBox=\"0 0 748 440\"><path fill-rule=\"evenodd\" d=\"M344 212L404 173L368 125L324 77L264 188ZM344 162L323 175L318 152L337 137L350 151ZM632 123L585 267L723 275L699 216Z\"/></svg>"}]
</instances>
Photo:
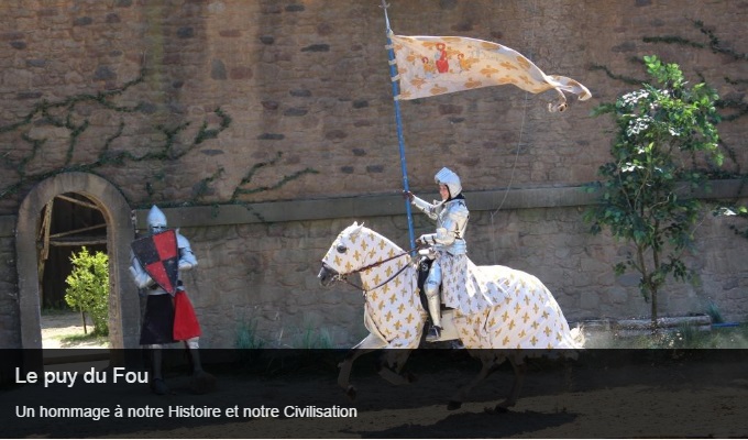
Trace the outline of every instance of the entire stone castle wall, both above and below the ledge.
<instances>
[{"instance_id":1,"label":"entire stone castle wall, both above and below the ledge","mask_svg":"<svg viewBox=\"0 0 748 440\"><path fill-rule=\"evenodd\" d=\"M635 58L648 54L717 89L724 114L736 116L719 125L726 168L748 163L743 3L391 3L398 34L501 42L594 96L564 113L546 110L552 94L514 87L403 101L416 193L431 191L433 173L444 165L472 191L595 179L608 160L609 121L590 111L635 88L629 82L645 78ZM252 211L264 201L395 195L402 187L376 1L11 1L0 4L0 216L7 219L41 179L67 169L105 177L138 209L245 204ZM713 46L711 35L718 38ZM495 212L501 205L497 198L471 218L476 263L532 272L570 319L647 315L636 282L609 271L625 251L586 234L582 208ZM329 327L336 343L354 340L359 294L322 292L314 279L316 262L353 220L342 217L185 229L201 258L190 276L210 329L206 343L230 344L235 324L227 318L255 316L279 344L293 344L289 332L311 324ZM403 216L366 221L407 242ZM726 221L702 224L694 255L702 287L674 287L663 311L703 311L704 298L714 295L726 315L748 316L746 268L736 263L747 246ZM6 235L0 254L12 275L13 233ZM11 292L0 297L0 341L10 345L20 340L14 277L3 277Z\"/></svg>"}]
</instances>

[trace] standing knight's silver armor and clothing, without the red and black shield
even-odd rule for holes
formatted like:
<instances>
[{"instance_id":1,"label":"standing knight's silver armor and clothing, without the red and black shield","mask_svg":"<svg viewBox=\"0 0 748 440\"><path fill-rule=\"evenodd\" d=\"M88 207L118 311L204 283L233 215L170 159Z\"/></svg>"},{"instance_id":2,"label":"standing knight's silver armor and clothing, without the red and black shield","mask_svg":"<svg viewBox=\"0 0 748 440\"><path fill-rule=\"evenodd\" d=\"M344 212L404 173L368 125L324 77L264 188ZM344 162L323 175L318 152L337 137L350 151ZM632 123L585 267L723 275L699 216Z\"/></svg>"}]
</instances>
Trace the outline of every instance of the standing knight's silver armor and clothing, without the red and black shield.
<instances>
[{"instance_id":1,"label":"standing knight's silver armor and clothing, without the red and black shield","mask_svg":"<svg viewBox=\"0 0 748 440\"><path fill-rule=\"evenodd\" d=\"M147 216L148 232L154 235L167 230L166 216L155 205ZM196 393L207 393L215 387L216 378L202 370L199 354L200 324L182 283L182 273L197 266L189 241L176 231L178 252L178 280L174 296L158 286L131 253L130 273L141 292L146 294L145 314L140 343L151 352L151 389L158 395L168 393L162 372L163 346L182 341L189 352L193 365L190 387Z\"/></svg>"}]
</instances>

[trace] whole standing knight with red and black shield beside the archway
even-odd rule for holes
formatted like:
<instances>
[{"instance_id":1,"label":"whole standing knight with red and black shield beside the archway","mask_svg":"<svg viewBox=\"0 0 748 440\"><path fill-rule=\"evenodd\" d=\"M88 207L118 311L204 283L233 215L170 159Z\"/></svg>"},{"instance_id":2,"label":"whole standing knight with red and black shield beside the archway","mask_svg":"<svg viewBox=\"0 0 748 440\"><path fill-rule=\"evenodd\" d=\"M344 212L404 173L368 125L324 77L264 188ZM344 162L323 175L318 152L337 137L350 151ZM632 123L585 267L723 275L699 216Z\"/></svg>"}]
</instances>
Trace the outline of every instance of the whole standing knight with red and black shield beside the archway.
<instances>
[{"instance_id":1,"label":"whole standing knight with red and black shield beside the archway","mask_svg":"<svg viewBox=\"0 0 748 440\"><path fill-rule=\"evenodd\" d=\"M197 258L189 241L178 230L166 228L166 216L155 205L147 223L150 235L133 242L130 273L138 287L147 292L140 343L151 350L151 389L157 395L168 393L162 372L162 349L164 344L183 341L193 364L190 387L195 393L207 393L215 387L216 378L202 370L200 324L182 283L182 272L197 266Z\"/></svg>"}]
</instances>

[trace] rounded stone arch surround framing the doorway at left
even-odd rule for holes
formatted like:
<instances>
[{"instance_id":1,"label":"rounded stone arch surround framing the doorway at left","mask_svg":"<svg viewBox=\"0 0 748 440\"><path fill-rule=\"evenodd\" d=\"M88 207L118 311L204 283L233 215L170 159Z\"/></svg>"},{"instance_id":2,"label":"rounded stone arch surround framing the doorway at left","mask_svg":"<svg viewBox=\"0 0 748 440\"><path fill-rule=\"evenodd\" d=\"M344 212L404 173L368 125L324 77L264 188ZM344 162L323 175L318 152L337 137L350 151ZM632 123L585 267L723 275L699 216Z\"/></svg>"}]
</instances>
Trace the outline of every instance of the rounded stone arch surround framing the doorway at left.
<instances>
[{"instance_id":1,"label":"rounded stone arch surround framing the doorway at left","mask_svg":"<svg viewBox=\"0 0 748 440\"><path fill-rule=\"evenodd\" d=\"M81 194L97 205L107 222L109 254L109 339L111 349L138 348L140 300L128 276L134 228L130 206L106 179L87 173L63 173L36 185L21 204L15 228L21 346L42 349L36 233L42 208L58 195Z\"/></svg>"}]
</instances>

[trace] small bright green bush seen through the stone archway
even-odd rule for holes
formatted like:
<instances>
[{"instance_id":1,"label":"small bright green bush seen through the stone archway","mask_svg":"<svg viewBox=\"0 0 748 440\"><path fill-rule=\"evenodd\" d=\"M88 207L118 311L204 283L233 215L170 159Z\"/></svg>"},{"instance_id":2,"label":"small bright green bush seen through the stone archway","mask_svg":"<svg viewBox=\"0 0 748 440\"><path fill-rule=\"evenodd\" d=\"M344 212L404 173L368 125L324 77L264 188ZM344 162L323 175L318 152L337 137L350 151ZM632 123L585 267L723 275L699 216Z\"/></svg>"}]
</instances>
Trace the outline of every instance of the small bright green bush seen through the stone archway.
<instances>
[{"instance_id":1,"label":"small bright green bush seen through the stone archway","mask_svg":"<svg viewBox=\"0 0 748 440\"><path fill-rule=\"evenodd\" d=\"M70 255L73 273L65 278L65 301L91 317L94 334L109 334L109 256L103 252L91 255L86 246Z\"/></svg>"}]
</instances>

